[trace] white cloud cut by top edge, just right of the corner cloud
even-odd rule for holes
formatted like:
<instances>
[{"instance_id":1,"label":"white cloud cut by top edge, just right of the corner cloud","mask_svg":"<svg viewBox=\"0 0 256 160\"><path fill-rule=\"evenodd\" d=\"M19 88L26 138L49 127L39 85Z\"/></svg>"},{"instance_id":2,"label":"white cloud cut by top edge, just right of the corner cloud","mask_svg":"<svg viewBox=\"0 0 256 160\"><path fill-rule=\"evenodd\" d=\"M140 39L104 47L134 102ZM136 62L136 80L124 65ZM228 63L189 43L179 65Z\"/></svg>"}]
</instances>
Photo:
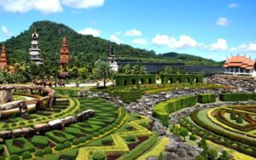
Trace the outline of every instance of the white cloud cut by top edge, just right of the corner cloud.
<instances>
[{"instance_id":1,"label":"white cloud cut by top edge, just right of the corner cloud","mask_svg":"<svg viewBox=\"0 0 256 160\"><path fill-rule=\"evenodd\" d=\"M64 5L75 9L90 9L101 7L105 0L61 0Z\"/></svg>"}]
</instances>

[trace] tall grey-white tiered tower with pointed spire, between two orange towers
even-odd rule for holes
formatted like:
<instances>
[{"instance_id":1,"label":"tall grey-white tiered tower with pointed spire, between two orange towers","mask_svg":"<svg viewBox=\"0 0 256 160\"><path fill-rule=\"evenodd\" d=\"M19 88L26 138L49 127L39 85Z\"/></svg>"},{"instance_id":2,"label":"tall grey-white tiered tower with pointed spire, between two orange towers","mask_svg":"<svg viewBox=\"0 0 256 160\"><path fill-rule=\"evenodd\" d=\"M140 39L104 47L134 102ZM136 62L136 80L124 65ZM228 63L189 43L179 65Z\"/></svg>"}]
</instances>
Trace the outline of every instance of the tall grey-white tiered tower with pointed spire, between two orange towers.
<instances>
[{"instance_id":1,"label":"tall grey-white tiered tower with pointed spire, between two orange towers","mask_svg":"<svg viewBox=\"0 0 256 160\"><path fill-rule=\"evenodd\" d=\"M31 42L31 48L29 49L29 60L32 63L36 63L37 65L41 66L44 65L41 49L39 49L39 43L38 43L38 33L37 31L34 31L32 33L32 42Z\"/></svg>"}]
</instances>

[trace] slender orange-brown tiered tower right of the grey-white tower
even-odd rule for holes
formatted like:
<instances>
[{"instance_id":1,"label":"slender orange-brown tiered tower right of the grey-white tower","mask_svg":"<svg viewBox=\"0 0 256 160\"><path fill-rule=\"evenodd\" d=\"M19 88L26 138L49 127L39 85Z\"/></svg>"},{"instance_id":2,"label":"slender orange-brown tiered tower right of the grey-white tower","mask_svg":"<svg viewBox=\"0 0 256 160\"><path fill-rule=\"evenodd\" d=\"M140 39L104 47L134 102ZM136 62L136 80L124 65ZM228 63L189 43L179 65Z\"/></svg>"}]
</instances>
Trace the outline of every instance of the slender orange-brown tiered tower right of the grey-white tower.
<instances>
[{"instance_id":1,"label":"slender orange-brown tiered tower right of the grey-white tower","mask_svg":"<svg viewBox=\"0 0 256 160\"><path fill-rule=\"evenodd\" d=\"M62 39L62 46L60 49L60 67L63 71L60 73L60 77L67 77L68 76L68 54L69 49L67 47L67 38L63 37Z\"/></svg>"}]
</instances>

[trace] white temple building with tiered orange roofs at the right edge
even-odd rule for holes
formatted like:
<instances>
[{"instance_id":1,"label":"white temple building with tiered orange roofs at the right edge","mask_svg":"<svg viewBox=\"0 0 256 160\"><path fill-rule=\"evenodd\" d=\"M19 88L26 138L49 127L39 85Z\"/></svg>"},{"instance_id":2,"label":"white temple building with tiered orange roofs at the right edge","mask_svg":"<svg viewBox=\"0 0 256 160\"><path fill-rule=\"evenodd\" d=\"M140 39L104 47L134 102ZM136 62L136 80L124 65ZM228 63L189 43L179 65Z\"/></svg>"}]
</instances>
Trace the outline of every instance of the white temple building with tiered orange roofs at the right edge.
<instances>
[{"instance_id":1,"label":"white temple building with tiered orange roofs at the right edge","mask_svg":"<svg viewBox=\"0 0 256 160\"><path fill-rule=\"evenodd\" d=\"M245 55L236 55L228 58L224 64L224 73L231 75L256 76L255 60Z\"/></svg>"}]
</instances>

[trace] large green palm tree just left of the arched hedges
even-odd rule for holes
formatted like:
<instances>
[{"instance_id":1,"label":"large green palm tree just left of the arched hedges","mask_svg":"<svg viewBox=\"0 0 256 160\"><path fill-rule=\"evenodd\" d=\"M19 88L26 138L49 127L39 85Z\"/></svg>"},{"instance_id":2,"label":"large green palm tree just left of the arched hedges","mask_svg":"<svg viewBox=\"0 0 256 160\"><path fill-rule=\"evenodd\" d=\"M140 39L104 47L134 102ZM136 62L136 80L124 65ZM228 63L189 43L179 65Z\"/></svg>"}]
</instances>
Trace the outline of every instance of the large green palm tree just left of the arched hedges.
<instances>
[{"instance_id":1,"label":"large green palm tree just left of the arched hedges","mask_svg":"<svg viewBox=\"0 0 256 160\"><path fill-rule=\"evenodd\" d=\"M113 78L113 69L108 62L100 61L97 63L96 76L104 80L104 88L106 87L106 80Z\"/></svg>"}]
</instances>

